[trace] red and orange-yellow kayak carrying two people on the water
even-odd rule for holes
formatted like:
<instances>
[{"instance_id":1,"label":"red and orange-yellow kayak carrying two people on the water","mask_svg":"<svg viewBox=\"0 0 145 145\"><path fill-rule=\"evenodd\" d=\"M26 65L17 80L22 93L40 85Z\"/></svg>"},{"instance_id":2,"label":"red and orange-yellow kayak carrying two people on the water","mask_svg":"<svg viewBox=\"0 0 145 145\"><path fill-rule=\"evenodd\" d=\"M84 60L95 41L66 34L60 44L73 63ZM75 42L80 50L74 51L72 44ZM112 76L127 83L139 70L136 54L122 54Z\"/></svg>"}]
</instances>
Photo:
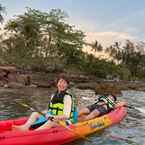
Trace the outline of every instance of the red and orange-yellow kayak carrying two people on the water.
<instances>
[{"instance_id":1,"label":"red and orange-yellow kayak carrying two people on the water","mask_svg":"<svg viewBox=\"0 0 145 145\"><path fill-rule=\"evenodd\" d=\"M61 145L101 131L119 123L127 114L125 107L95 119L44 130L12 131L12 125L22 125L27 118L0 121L0 145Z\"/></svg>"}]
</instances>

